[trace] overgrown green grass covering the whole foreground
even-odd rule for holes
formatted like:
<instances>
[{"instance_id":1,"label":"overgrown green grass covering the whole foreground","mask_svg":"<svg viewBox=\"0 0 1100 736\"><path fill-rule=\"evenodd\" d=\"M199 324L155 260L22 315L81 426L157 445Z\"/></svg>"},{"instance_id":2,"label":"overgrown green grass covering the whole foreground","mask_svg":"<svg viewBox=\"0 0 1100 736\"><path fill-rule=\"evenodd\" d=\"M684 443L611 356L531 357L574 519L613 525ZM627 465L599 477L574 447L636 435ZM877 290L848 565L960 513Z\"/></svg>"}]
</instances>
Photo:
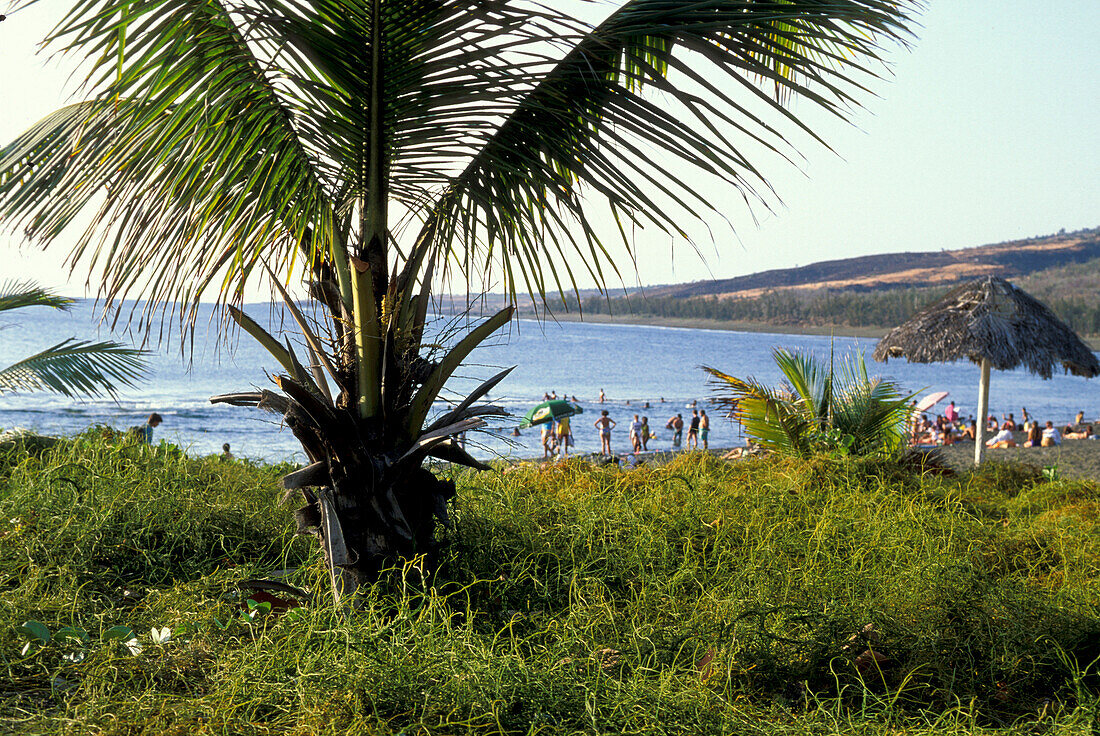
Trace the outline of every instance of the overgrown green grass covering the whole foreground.
<instances>
[{"instance_id":1,"label":"overgrown green grass covering the whole foreground","mask_svg":"<svg viewBox=\"0 0 1100 736\"><path fill-rule=\"evenodd\" d=\"M391 571L350 619L323 595L250 615L240 583L273 570L324 592L278 503L285 470L91 433L0 459L0 730L1100 728L1093 482L703 455L507 466L457 477L435 575ZM117 626L134 634L103 636Z\"/></svg>"}]
</instances>

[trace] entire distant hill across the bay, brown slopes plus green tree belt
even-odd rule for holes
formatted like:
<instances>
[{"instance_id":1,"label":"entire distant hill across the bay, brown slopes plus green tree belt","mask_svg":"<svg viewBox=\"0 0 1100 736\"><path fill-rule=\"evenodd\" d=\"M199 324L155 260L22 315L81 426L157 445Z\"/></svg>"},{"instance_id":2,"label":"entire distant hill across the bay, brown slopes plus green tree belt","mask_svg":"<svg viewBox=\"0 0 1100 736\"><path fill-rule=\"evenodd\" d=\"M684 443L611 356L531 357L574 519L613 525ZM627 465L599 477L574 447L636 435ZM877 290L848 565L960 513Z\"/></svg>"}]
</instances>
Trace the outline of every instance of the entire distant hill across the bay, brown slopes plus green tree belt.
<instances>
[{"instance_id":1,"label":"entire distant hill across the bay, brown slopes plus green tree belt","mask_svg":"<svg viewBox=\"0 0 1100 736\"><path fill-rule=\"evenodd\" d=\"M938 253L824 261L647 287L613 299L582 295L554 311L644 323L881 334L955 284L986 275L1011 279L1079 333L1100 336L1100 228Z\"/></svg>"}]
</instances>

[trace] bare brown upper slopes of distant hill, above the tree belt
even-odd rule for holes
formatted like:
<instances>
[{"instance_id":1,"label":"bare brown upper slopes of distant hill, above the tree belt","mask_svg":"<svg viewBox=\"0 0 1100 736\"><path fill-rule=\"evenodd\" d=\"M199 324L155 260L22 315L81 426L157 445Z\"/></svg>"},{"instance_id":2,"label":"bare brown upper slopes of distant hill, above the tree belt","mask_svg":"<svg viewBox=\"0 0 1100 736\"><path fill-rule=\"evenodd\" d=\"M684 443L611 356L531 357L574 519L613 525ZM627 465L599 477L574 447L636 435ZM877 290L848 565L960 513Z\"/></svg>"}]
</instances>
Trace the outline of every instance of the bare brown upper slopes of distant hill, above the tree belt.
<instances>
[{"instance_id":1,"label":"bare brown upper slopes of distant hill, above the tree belt","mask_svg":"<svg viewBox=\"0 0 1100 736\"><path fill-rule=\"evenodd\" d=\"M822 261L748 276L653 286L649 298L754 297L783 289L853 292L945 286L978 276L1019 278L1100 259L1100 228L932 253L886 253Z\"/></svg>"}]
</instances>

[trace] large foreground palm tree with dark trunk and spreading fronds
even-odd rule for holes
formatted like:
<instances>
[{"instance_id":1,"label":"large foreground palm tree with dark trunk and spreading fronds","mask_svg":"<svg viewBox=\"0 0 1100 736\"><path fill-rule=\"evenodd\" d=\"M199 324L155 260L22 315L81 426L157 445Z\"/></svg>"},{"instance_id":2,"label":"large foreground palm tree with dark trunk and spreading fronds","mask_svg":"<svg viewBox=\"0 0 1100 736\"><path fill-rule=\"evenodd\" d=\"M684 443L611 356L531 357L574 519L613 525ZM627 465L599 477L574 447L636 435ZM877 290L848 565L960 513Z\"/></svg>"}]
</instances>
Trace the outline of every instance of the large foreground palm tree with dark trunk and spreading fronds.
<instances>
[{"instance_id":1,"label":"large foreground palm tree with dark trunk and spreading fronds","mask_svg":"<svg viewBox=\"0 0 1100 736\"><path fill-rule=\"evenodd\" d=\"M795 97L844 118L910 2L613 4L593 23L569 0L77 0L48 40L87 57L90 99L2 151L0 217L48 243L84 213L70 259L106 300L187 325L213 295L267 347L279 391L215 400L282 414L301 441L310 464L286 485L338 595L431 550L454 488L427 457L483 466L453 438L498 413L479 402L506 372L429 414L513 308L440 354L432 285L544 300L576 267L617 274L631 228L705 223L701 176L769 197L749 152L813 136ZM239 309L257 275L304 348Z\"/></svg>"}]
</instances>

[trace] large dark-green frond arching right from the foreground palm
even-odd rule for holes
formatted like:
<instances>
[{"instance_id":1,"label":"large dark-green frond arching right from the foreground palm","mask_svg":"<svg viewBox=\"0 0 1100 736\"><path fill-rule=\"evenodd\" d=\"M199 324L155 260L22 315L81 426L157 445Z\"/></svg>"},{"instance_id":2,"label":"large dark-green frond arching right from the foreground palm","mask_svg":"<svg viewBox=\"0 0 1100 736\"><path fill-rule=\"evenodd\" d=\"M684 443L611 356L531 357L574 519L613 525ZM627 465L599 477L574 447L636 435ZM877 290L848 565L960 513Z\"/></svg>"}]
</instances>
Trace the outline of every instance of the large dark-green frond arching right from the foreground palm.
<instances>
[{"instance_id":1,"label":"large dark-green frond arching right from the foreground palm","mask_svg":"<svg viewBox=\"0 0 1100 736\"><path fill-rule=\"evenodd\" d=\"M816 138L784 107L791 95L846 117L862 78L873 76L865 62L879 58L880 40L904 40L909 4L623 3L543 75L454 179L444 200L453 255L468 271L499 264L513 294L517 284L531 294L548 282L575 287L568 261L554 267L563 256L580 256L602 284L614 264L598 219L624 233L648 224L684 239L685 218L704 221L713 211L697 173L746 201L767 201L766 175L746 152L790 157L783 127ZM471 259L477 244L481 255Z\"/></svg>"}]
</instances>

